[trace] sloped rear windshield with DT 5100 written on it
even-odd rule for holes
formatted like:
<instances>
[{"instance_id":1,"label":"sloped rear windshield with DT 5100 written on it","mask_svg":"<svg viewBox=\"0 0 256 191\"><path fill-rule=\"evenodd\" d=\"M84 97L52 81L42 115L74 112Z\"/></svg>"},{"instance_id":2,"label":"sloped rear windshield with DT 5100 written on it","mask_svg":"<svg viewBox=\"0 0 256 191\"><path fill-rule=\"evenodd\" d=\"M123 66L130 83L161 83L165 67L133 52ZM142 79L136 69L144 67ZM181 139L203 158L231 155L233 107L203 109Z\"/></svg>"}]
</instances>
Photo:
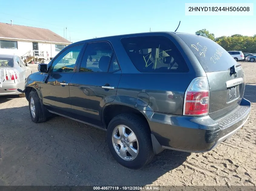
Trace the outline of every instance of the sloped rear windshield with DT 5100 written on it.
<instances>
[{"instance_id":1,"label":"sloped rear windshield with DT 5100 written on it","mask_svg":"<svg viewBox=\"0 0 256 191\"><path fill-rule=\"evenodd\" d=\"M178 36L192 50L205 72L229 70L237 64L224 48L206 37L192 34L178 34Z\"/></svg>"}]
</instances>

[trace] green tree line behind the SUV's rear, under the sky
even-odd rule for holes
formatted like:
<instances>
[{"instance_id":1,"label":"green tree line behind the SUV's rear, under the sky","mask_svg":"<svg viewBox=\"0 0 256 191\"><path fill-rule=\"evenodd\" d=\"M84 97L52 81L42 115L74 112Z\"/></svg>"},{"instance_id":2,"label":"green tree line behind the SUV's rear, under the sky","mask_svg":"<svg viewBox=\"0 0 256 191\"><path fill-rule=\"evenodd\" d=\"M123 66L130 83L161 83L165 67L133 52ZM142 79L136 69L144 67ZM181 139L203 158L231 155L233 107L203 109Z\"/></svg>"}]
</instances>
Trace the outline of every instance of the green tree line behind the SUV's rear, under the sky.
<instances>
[{"instance_id":1,"label":"green tree line behind the SUV's rear, under the sky","mask_svg":"<svg viewBox=\"0 0 256 191\"><path fill-rule=\"evenodd\" d=\"M256 34L253 37L243 36L241 34L234 34L232 36L214 37L213 33L210 33L206 29L198 30L195 34L207 37L220 46L226 51L242 51L244 53L256 53Z\"/></svg>"}]
</instances>

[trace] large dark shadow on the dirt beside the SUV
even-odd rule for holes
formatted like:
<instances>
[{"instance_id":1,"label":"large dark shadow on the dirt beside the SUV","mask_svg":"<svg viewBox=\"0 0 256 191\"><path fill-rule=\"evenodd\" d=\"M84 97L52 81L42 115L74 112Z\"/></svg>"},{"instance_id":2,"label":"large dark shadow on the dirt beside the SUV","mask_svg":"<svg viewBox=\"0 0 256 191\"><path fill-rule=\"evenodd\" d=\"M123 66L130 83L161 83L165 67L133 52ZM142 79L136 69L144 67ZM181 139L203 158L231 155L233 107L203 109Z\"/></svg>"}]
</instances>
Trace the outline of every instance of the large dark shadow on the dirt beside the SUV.
<instances>
[{"instance_id":1,"label":"large dark shadow on the dirt beside the SUV","mask_svg":"<svg viewBox=\"0 0 256 191\"><path fill-rule=\"evenodd\" d=\"M143 169L130 170L114 160L104 131L60 116L35 124L28 106L0 113L4 185L147 185L190 155L166 150Z\"/></svg>"}]
</instances>

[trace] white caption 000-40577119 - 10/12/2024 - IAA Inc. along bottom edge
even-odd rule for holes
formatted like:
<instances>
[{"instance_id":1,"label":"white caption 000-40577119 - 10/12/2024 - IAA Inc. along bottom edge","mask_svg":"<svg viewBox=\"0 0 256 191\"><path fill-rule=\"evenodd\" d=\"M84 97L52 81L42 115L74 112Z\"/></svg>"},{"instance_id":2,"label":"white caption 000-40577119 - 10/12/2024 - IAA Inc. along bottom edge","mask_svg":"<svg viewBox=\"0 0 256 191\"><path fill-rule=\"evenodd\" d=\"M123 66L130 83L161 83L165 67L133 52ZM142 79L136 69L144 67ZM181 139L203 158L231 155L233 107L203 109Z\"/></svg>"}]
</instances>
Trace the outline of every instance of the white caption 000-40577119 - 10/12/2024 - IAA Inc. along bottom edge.
<instances>
[{"instance_id":1,"label":"white caption 000-40577119 - 10/12/2024 - IAA Inc. along bottom edge","mask_svg":"<svg viewBox=\"0 0 256 191\"><path fill-rule=\"evenodd\" d=\"M160 190L159 186L93 186L93 190Z\"/></svg>"}]
</instances>

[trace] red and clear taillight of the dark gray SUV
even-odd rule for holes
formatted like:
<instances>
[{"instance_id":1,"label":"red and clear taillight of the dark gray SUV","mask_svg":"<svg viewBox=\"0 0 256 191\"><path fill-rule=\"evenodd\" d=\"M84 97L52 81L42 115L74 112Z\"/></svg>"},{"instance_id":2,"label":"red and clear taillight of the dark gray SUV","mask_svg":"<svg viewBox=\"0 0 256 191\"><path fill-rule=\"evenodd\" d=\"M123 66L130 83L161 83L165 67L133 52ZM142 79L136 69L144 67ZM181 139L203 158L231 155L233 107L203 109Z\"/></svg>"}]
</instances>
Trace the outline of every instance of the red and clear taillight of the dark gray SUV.
<instances>
[{"instance_id":1,"label":"red and clear taillight of the dark gray SUV","mask_svg":"<svg viewBox=\"0 0 256 191\"><path fill-rule=\"evenodd\" d=\"M207 77L195 78L184 98L183 115L200 116L209 113L209 84Z\"/></svg>"}]
</instances>

